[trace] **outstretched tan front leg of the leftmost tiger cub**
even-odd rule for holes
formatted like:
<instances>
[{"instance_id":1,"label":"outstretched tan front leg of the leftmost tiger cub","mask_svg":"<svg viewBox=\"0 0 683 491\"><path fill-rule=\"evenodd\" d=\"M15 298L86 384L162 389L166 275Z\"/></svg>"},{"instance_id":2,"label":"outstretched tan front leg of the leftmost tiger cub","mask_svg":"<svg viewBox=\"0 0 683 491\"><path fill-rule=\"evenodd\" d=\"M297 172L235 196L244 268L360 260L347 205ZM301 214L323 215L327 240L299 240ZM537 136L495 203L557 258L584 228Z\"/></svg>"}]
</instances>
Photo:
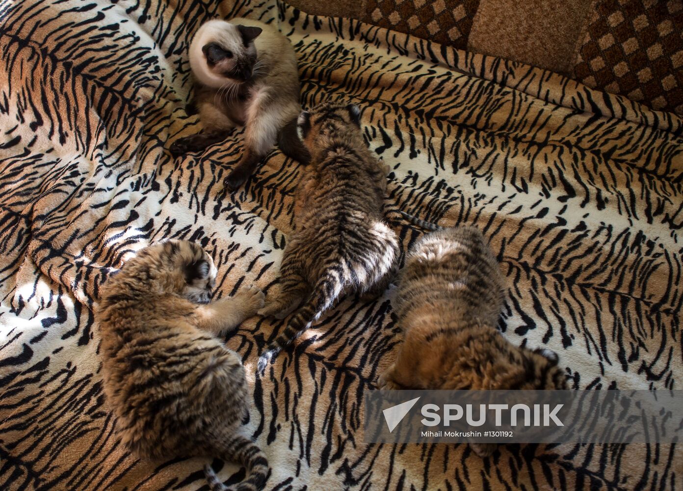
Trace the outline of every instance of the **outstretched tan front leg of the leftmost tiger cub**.
<instances>
[{"instance_id":1,"label":"outstretched tan front leg of the leftmost tiger cub","mask_svg":"<svg viewBox=\"0 0 683 491\"><path fill-rule=\"evenodd\" d=\"M216 336L225 334L239 326L245 319L253 317L263 307L264 298L260 288L249 287L241 289L232 297L200 305L197 307L199 328Z\"/></svg>"}]
</instances>

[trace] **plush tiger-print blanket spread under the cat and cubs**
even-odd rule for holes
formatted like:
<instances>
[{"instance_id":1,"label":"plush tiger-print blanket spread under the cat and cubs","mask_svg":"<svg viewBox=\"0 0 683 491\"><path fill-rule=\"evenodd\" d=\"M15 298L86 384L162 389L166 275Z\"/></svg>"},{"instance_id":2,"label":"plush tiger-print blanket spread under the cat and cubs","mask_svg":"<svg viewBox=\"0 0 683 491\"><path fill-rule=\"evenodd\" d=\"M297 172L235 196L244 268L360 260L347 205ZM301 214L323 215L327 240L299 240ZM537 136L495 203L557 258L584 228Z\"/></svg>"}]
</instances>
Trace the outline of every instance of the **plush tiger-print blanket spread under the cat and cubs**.
<instances>
[{"instance_id":1,"label":"plush tiger-print blanket spread under the cat and cubs","mask_svg":"<svg viewBox=\"0 0 683 491\"><path fill-rule=\"evenodd\" d=\"M167 237L214 255L223 295L274 283L300 166L275 151L225 196L241 132L203 155L167 151L198 130L193 32L245 15L292 40L305 106L363 108L403 252L423 232L399 211L476 224L507 279L507 339L555 349L576 389L679 388L681 118L275 0L5 0L0 489L206 490L206 459L137 460L117 442L92 307L126 257ZM482 460L465 445L365 444L363 393L400 342L391 295L344 300L263 377L257 354L282 324L255 317L227 339L253 388L245 431L273 466L267 489L681 488L675 445L510 445Z\"/></svg>"}]
</instances>

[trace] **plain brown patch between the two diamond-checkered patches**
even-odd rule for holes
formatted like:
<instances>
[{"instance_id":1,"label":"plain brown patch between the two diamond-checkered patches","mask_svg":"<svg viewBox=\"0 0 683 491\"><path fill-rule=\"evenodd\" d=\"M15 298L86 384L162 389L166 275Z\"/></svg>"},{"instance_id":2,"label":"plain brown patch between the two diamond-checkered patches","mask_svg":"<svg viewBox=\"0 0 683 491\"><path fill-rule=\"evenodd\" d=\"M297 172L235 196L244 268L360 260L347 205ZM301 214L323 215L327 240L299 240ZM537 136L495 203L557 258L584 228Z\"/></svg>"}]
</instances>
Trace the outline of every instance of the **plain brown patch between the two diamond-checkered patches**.
<instances>
[{"instance_id":1,"label":"plain brown patch between the two diamond-checkered patches","mask_svg":"<svg viewBox=\"0 0 683 491\"><path fill-rule=\"evenodd\" d=\"M566 74L591 0L480 0L467 49Z\"/></svg>"}]
</instances>

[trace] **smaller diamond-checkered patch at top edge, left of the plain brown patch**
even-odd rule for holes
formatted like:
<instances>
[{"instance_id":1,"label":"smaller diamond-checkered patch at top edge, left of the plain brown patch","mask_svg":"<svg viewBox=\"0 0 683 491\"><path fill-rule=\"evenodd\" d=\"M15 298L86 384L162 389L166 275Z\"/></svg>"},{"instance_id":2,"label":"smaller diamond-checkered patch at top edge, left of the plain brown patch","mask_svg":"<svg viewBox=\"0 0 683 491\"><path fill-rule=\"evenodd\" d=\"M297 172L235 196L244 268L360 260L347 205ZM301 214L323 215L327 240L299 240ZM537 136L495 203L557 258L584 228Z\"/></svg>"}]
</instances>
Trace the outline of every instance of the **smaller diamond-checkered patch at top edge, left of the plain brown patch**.
<instances>
[{"instance_id":1,"label":"smaller diamond-checkered patch at top edge, left of the plain brown patch","mask_svg":"<svg viewBox=\"0 0 683 491\"><path fill-rule=\"evenodd\" d=\"M479 0L367 0L362 20L466 49Z\"/></svg>"}]
</instances>

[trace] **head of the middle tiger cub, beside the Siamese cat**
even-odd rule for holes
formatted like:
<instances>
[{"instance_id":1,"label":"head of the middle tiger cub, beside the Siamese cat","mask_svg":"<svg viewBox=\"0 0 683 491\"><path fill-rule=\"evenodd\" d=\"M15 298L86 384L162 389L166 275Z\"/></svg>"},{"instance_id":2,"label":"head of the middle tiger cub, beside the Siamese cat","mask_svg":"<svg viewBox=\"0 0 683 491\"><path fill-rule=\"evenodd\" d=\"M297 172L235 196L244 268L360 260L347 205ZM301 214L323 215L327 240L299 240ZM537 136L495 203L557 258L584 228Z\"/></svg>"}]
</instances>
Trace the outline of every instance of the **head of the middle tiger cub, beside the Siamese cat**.
<instances>
[{"instance_id":1,"label":"head of the middle tiger cub, beside the Siamese cat","mask_svg":"<svg viewBox=\"0 0 683 491\"><path fill-rule=\"evenodd\" d=\"M326 102L303 111L296 121L296 134L313 159L335 142L363 146L361 108L355 104Z\"/></svg>"}]
</instances>

